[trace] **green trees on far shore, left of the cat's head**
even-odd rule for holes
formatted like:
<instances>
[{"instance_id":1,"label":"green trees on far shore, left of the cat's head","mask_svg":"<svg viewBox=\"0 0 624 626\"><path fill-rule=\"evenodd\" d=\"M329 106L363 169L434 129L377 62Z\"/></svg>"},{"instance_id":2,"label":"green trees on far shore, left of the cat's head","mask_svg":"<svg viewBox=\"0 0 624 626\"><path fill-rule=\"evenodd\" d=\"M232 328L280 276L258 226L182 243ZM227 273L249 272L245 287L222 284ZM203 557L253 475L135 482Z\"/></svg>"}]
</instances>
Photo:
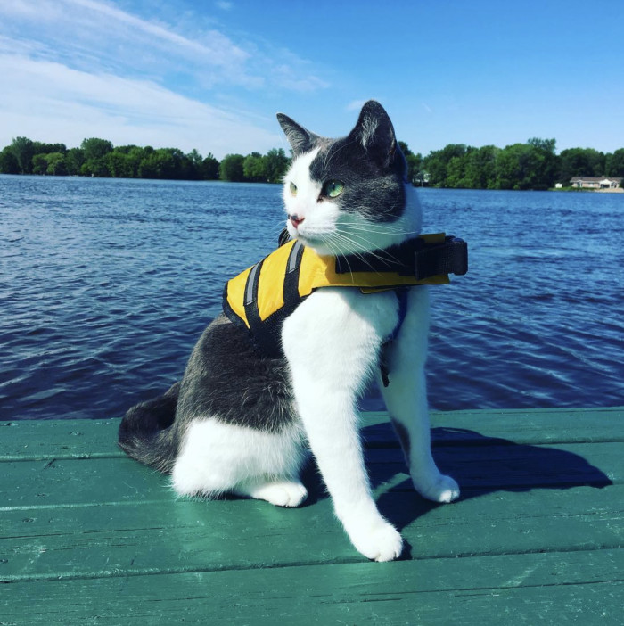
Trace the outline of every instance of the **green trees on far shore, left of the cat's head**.
<instances>
[{"instance_id":1,"label":"green trees on far shore, left of the cat's head","mask_svg":"<svg viewBox=\"0 0 624 626\"><path fill-rule=\"evenodd\" d=\"M0 173L45 176L162 178L172 180L227 180L277 183L290 159L281 148L267 154L226 154L218 161L211 153L137 145L113 146L91 137L80 147L44 144L16 137L0 152Z\"/></svg>"}]
</instances>

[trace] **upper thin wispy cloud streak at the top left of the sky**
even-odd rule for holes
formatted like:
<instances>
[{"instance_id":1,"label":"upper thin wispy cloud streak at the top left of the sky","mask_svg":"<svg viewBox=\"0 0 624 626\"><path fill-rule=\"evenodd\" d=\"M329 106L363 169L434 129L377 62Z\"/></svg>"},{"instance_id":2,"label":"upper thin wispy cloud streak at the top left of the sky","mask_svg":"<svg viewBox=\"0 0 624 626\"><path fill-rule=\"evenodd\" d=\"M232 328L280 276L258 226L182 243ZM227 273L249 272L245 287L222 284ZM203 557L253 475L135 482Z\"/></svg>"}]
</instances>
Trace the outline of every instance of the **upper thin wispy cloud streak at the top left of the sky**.
<instances>
[{"instance_id":1,"label":"upper thin wispy cloud streak at the top left of the sky","mask_svg":"<svg viewBox=\"0 0 624 626\"><path fill-rule=\"evenodd\" d=\"M245 41L237 44L214 28L214 21L196 17L192 27L185 22L188 32L182 33L99 0L16 0L0 2L0 34L5 30L16 45L24 45L23 32L29 32L30 41L46 42L39 54L84 70L163 81L183 76L183 83L201 88L271 86L300 92L327 86L290 51L253 43L251 34L239 35Z\"/></svg>"}]
</instances>

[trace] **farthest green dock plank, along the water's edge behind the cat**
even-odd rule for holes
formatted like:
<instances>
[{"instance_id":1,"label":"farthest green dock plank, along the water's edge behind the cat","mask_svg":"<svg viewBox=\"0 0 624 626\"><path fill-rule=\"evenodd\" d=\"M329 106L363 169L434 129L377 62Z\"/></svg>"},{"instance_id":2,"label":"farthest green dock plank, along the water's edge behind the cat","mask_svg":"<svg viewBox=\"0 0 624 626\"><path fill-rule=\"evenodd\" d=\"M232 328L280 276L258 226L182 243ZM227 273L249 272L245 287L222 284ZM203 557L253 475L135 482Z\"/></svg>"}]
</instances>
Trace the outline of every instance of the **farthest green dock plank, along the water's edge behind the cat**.
<instances>
[{"instance_id":1,"label":"farthest green dock plank, along the water's edge behind the cat","mask_svg":"<svg viewBox=\"0 0 624 626\"><path fill-rule=\"evenodd\" d=\"M386 413L364 413L364 436L371 446L396 445ZM624 441L624 408L505 409L433 412L436 445L488 445L489 438L517 443ZM45 458L121 457L119 419L25 420L0 422L0 461Z\"/></svg>"}]
</instances>

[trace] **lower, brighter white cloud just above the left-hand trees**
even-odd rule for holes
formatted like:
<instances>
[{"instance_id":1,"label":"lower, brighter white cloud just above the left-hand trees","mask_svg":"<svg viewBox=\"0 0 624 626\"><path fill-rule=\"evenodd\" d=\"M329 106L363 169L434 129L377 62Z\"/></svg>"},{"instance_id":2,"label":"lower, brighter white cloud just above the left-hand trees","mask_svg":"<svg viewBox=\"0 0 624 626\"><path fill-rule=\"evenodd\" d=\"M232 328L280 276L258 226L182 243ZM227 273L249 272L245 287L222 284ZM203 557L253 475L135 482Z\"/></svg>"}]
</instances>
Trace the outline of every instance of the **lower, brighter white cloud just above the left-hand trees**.
<instances>
[{"instance_id":1,"label":"lower, brighter white cloud just above the left-hand trees","mask_svg":"<svg viewBox=\"0 0 624 626\"><path fill-rule=\"evenodd\" d=\"M240 113L223 111L147 80L88 74L60 63L0 55L0 75L11 86L0 103L0 147L14 136L78 145L100 136L113 144L267 152L283 143Z\"/></svg>"}]
</instances>

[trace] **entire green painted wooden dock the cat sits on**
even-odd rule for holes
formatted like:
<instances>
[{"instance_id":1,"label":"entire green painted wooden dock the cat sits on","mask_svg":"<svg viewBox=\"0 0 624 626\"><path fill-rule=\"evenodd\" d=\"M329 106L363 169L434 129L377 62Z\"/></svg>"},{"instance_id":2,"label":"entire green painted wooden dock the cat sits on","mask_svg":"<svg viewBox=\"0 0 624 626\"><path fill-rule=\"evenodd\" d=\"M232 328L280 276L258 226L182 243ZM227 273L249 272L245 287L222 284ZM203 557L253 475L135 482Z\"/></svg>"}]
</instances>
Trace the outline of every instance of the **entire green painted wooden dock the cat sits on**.
<instances>
[{"instance_id":1,"label":"entire green painted wooden dock the cat sits on","mask_svg":"<svg viewBox=\"0 0 624 626\"><path fill-rule=\"evenodd\" d=\"M393 563L351 548L313 467L306 506L176 498L119 420L0 423L0 624L621 624L624 408L434 414L462 498L411 489L365 414Z\"/></svg>"}]
</instances>

